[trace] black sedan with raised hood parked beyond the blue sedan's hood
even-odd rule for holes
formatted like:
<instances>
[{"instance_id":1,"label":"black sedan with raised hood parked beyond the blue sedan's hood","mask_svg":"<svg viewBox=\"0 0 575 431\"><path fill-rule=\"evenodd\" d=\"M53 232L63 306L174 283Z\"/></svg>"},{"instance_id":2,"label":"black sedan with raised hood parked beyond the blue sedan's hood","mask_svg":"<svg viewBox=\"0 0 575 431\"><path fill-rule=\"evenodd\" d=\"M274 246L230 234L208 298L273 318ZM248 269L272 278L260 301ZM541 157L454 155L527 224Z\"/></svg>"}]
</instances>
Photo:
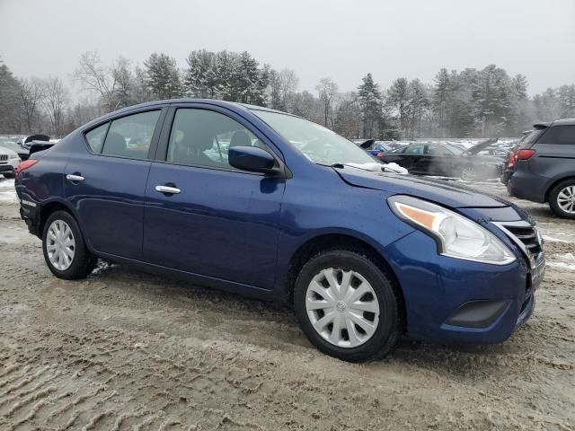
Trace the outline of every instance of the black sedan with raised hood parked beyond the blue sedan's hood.
<instances>
[{"instance_id":1,"label":"black sedan with raised hood parked beyond the blue sedan's hood","mask_svg":"<svg viewBox=\"0 0 575 431\"><path fill-rule=\"evenodd\" d=\"M403 166L410 173L481 180L499 178L505 167L500 157L477 155L490 142L464 150L447 143L412 144L384 153L381 160Z\"/></svg>"}]
</instances>

